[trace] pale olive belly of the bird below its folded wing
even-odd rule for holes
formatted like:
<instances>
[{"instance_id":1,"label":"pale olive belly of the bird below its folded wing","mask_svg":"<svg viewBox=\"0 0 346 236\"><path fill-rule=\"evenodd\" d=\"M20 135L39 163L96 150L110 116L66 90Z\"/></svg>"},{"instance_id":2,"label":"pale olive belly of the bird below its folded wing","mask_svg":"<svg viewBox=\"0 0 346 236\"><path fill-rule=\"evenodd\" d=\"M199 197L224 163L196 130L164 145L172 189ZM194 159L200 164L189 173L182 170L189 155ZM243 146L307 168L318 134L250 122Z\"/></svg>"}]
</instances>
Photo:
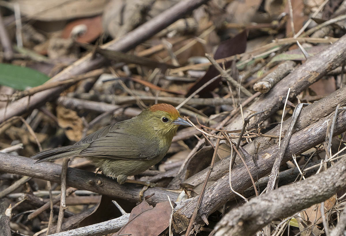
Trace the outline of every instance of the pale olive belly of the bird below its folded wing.
<instances>
[{"instance_id":1,"label":"pale olive belly of the bird below its folded wing","mask_svg":"<svg viewBox=\"0 0 346 236\"><path fill-rule=\"evenodd\" d=\"M142 173L151 166L161 161L163 157L156 157L152 160L119 160L111 158L88 158L91 162L102 170L106 176L117 177L120 174L133 176Z\"/></svg>"}]
</instances>

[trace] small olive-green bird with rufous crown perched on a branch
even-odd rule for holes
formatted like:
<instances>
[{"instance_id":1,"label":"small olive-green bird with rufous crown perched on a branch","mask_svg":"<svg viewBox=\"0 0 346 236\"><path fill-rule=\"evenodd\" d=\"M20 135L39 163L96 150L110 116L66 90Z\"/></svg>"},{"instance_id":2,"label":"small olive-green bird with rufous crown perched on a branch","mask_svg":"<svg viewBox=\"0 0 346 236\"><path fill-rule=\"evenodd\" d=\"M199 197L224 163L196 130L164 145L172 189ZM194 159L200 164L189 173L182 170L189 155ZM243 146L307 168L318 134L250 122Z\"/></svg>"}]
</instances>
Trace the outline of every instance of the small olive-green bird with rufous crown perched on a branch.
<instances>
[{"instance_id":1,"label":"small olive-green bird with rufous crown perched on a branch","mask_svg":"<svg viewBox=\"0 0 346 236\"><path fill-rule=\"evenodd\" d=\"M166 155L179 125L189 125L174 106L159 103L125 121L108 125L73 145L39 152L36 163L65 157L89 159L119 184L142 173Z\"/></svg>"}]
</instances>

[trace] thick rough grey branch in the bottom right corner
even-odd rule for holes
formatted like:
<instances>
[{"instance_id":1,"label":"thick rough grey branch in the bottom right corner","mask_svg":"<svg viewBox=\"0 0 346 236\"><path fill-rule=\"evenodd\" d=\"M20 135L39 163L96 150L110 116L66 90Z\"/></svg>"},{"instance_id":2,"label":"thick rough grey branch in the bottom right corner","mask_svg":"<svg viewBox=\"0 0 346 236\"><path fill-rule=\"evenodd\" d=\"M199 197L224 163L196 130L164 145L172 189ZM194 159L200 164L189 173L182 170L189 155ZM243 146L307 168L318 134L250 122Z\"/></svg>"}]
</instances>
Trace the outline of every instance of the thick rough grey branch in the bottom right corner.
<instances>
[{"instance_id":1,"label":"thick rough grey branch in the bottom right corner","mask_svg":"<svg viewBox=\"0 0 346 236\"><path fill-rule=\"evenodd\" d=\"M316 184L318 183L318 185ZM346 188L346 159L318 175L251 199L231 210L216 226L216 236L248 236L273 219L293 215Z\"/></svg>"}]
</instances>

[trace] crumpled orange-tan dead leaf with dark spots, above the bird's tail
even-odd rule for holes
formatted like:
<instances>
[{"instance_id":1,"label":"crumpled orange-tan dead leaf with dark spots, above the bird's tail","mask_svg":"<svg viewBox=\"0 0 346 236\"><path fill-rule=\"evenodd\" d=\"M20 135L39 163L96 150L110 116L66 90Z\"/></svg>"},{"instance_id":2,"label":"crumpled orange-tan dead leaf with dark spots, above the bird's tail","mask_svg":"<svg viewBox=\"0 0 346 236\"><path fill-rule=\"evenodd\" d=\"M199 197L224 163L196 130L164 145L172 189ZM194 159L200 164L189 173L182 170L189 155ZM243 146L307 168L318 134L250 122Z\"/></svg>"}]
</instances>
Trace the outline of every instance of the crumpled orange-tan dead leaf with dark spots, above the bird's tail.
<instances>
[{"instance_id":1,"label":"crumpled orange-tan dead leaf with dark spots, above the bird's tail","mask_svg":"<svg viewBox=\"0 0 346 236\"><path fill-rule=\"evenodd\" d=\"M57 106L56 116L59 126L64 129L69 140L76 142L81 140L84 125L82 118L78 116L77 112L63 106Z\"/></svg>"}]
</instances>

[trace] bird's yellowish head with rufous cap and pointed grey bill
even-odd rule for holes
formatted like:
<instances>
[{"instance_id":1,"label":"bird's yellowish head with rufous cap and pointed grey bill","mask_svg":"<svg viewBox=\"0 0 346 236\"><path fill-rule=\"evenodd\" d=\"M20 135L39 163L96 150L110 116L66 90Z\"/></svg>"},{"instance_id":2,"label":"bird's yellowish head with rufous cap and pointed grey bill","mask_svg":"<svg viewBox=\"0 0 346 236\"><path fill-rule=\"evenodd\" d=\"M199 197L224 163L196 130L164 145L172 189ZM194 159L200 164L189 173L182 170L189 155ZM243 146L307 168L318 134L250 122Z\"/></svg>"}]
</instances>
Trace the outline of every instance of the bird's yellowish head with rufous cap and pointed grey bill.
<instances>
[{"instance_id":1,"label":"bird's yellowish head with rufous cap and pointed grey bill","mask_svg":"<svg viewBox=\"0 0 346 236\"><path fill-rule=\"evenodd\" d=\"M192 126L180 117L174 106L166 103L154 104L144 110L141 115L146 117L147 122L154 128L156 133L173 136L179 125Z\"/></svg>"}]
</instances>

